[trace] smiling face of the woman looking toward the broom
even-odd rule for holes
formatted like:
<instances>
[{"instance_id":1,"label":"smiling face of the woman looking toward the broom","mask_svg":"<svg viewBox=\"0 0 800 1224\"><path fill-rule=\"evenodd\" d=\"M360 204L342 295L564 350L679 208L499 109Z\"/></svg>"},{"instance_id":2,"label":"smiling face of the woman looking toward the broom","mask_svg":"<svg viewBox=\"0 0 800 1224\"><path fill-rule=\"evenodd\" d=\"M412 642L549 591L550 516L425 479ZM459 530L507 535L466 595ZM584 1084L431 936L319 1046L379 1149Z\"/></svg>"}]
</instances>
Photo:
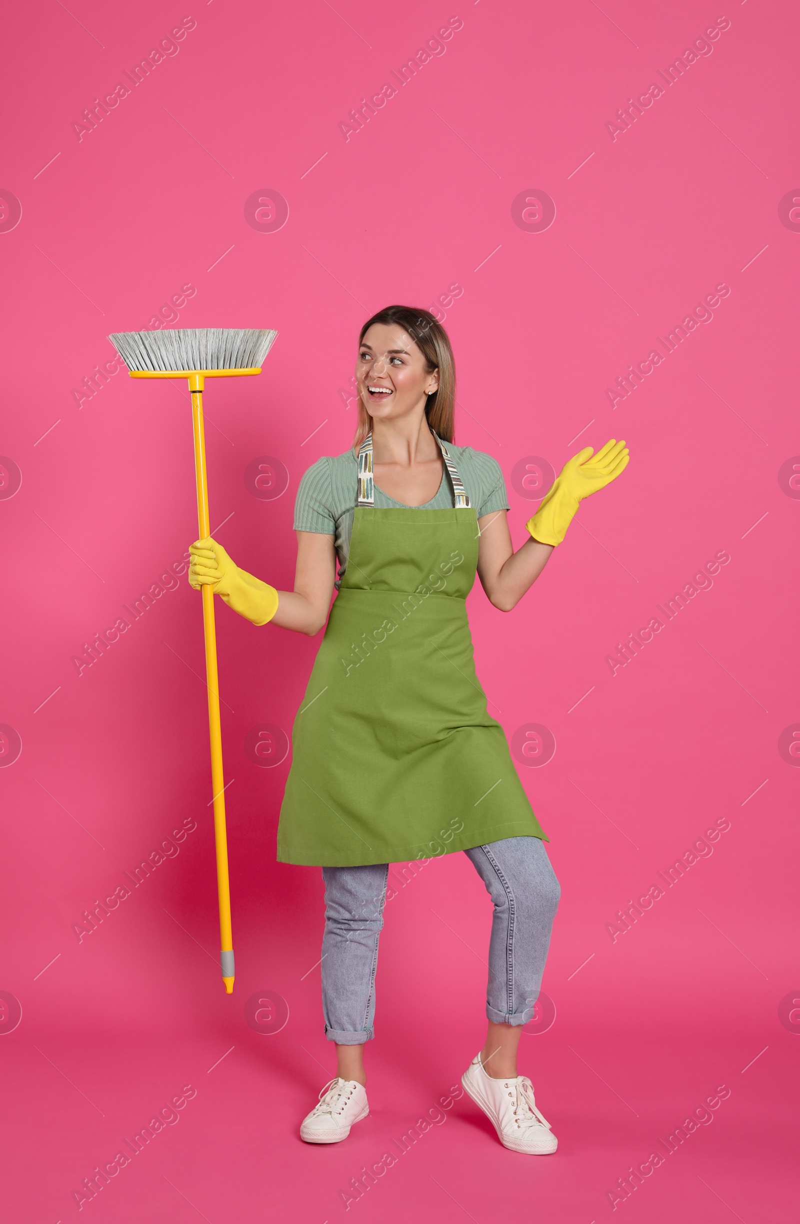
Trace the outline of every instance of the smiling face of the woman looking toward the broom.
<instances>
[{"instance_id":1,"label":"smiling face of the woman looking toward the broom","mask_svg":"<svg viewBox=\"0 0 800 1224\"><path fill-rule=\"evenodd\" d=\"M424 408L439 371L428 371L422 350L399 324L373 323L358 349L358 397L369 416L396 420Z\"/></svg>"}]
</instances>

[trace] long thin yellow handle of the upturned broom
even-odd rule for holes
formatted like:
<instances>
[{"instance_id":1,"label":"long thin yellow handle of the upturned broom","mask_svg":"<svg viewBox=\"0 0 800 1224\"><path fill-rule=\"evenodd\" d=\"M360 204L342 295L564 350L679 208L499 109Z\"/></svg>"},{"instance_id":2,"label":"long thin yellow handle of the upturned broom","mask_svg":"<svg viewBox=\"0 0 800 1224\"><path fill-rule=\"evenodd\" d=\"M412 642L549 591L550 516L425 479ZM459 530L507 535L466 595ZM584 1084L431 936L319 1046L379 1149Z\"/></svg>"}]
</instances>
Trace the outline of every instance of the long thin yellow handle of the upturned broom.
<instances>
[{"instance_id":1,"label":"long thin yellow handle of the upturned broom","mask_svg":"<svg viewBox=\"0 0 800 1224\"><path fill-rule=\"evenodd\" d=\"M197 525L199 539L210 535L208 481L206 479L206 435L203 431L203 375L191 375L192 427L194 432L194 475L197 479ZM212 748L212 788L214 796L214 841L217 843L217 892L219 897L220 965L228 994L234 989L234 945L230 923L230 884L228 879L228 837L225 832L225 780L223 775L223 734L219 720L219 679L217 674L217 635L214 633L214 592L203 586L203 633L206 636L206 678L208 684L208 732Z\"/></svg>"}]
</instances>

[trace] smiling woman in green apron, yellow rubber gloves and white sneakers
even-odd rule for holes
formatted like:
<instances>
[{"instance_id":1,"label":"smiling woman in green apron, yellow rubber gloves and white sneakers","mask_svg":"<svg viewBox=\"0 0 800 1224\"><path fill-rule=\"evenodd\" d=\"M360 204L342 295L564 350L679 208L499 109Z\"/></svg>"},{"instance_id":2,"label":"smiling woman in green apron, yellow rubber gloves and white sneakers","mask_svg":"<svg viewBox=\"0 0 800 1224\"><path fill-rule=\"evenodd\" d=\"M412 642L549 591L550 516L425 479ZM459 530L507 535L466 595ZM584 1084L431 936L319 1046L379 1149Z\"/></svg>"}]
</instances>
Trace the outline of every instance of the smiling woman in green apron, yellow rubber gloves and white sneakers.
<instances>
[{"instance_id":1,"label":"smiling woman in green apron, yellow rubber gloves and white sneakers","mask_svg":"<svg viewBox=\"0 0 800 1224\"><path fill-rule=\"evenodd\" d=\"M363 1044L374 1036L389 863L464 851L494 911L488 1032L462 1083L505 1147L554 1152L516 1051L560 890L487 711L465 600L477 572L494 607L510 612L628 450L610 441L570 459L514 552L499 465L453 444L455 366L433 315L389 306L368 319L356 382L352 448L318 459L297 490L294 591L247 574L212 539L190 550L191 584L212 584L254 624L313 635L328 622L294 725L278 830L278 859L322 867L325 884L322 1002L338 1075L300 1133L336 1143L368 1113Z\"/></svg>"}]
</instances>

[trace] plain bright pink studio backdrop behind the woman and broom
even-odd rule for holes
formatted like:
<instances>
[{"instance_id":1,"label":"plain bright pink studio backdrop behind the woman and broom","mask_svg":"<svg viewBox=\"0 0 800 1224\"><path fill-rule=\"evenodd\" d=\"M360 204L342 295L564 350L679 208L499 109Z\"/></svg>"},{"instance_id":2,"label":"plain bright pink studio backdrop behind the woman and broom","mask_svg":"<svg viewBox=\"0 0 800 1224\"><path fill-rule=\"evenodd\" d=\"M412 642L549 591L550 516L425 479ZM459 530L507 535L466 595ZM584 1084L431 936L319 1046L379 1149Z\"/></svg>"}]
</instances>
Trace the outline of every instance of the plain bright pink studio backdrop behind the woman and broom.
<instances>
[{"instance_id":1,"label":"plain bright pink studio backdrop behind the woman and broom","mask_svg":"<svg viewBox=\"0 0 800 1224\"><path fill-rule=\"evenodd\" d=\"M183 16L177 53L78 138L84 108ZM451 16L445 53L345 140L350 109ZM665 86L658 70L717 17L713 54ZM83 1202L88 1217L796 1219L782 1087L800 1050L800 758L779 750L800 722L788 360L800 226L779 211L800 197L796 7L34 0L7 26L9 1218L72 1218L82 1180L191 1084L180 1124ZM612 140L617 109L659 81L663 95ZM248 222L253 193L287 202L281 228ZM525 228L521 193L547 193L553 224ZM9 228L12 197L22 215ZM730 293L713 321L613 408L607 388L718 284ZM431 863L387 906L372 1118L338 1147L297 1137L334 1069L322 881L275 863L290 758L259 767L245 739L262 723L290 733L319 639L256 632L218 606L231 998L217 961L199 597L183 577L81 676L71 661L196 536L186 389L125 372L82 387L114 355L109 332L147 327L185 285L196 293L166 306L169 326L280 333L261 377L207 394L212 523L278 588L292 585L297 482L352 439L357 333L384 305L439 302L456 442L502 464L516 546L537 504L511 479L517 464L558 471L585 444L630 446L624 477L585 504L511 614L480 585L470 597L493 712L509 738L536 723L557 743L544 766L519 764L563 885L543 983L555 1021L521 1047L559 1136L552 1159L506 1152L461 1098L361 1201L340 1195L482 1044L489 902L464 856ZM287 472L273 498L245 480L265 455ZM723 550L713 588L612 674L606 656ZM78 940L83 911L183 820L197 827L180 852ZM717 820L729 826L713 854L612 941L619 907ZM264 991L276 1018L262 1007L258 1032L246 1004ZM272 1032L281 1000L289 1020ZM723 1084L713 1124L612 1208L617 1179Z\"/></svg>"}]
</instances>

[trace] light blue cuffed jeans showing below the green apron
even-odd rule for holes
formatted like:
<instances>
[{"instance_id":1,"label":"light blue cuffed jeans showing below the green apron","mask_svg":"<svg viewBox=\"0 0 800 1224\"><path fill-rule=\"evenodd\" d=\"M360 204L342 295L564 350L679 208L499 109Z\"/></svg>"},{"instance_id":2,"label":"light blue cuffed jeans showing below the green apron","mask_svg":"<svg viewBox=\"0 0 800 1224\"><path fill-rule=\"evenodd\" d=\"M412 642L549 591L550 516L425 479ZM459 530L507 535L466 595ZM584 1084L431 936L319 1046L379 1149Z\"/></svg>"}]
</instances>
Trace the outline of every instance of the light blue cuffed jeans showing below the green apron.
<instances>
[{"instance_id":1,"label":"light blue cuffed jeans showing below the green apron","mask_svg":"<svg viewBox=\"0 0 800 1224\"><path fill-rule=\"evenodd\" d=\"M494 902L486 1013L498 1024L533 1016L560 886L539 837L506 837L465 849ZM411 879L413 863L402 869ZM376 969L389 864L323 867L325 933L322 1007L325 1037L361 1045L374 1037Z\"/></svg>"}]
</instances>

